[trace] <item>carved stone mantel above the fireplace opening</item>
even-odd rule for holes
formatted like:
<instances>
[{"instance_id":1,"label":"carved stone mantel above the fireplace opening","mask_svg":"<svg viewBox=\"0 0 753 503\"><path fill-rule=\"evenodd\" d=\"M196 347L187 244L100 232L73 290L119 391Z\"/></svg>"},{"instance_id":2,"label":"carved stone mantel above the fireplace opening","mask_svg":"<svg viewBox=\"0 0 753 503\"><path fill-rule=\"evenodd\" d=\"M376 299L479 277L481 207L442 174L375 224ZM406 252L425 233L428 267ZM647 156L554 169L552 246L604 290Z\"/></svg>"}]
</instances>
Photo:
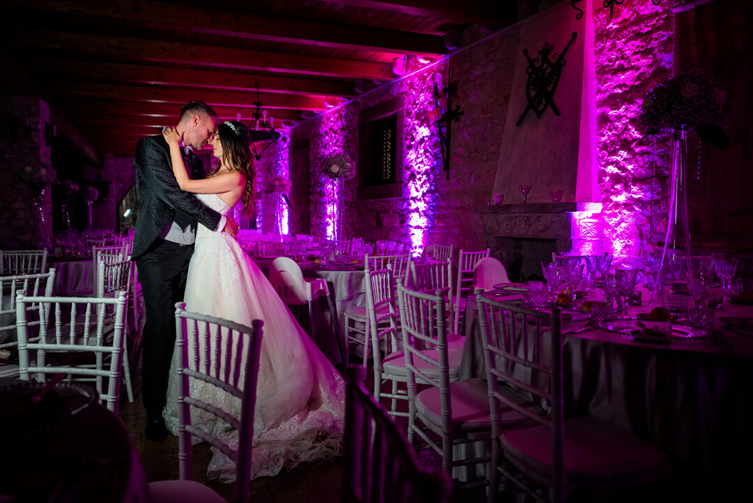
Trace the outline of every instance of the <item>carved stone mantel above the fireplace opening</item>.
<instances>
[{"instance_id":1,"label":"carved stone mantel above the fireplace opening","mask_svg":"<svg viewBox=\"0 0 753 503\"><path fill-rule=\"evenodd\" d=\"M483 233L495 237L570 239L570 212L577 203L526 203L479 206Z\"/></svg>"}]
</instances>

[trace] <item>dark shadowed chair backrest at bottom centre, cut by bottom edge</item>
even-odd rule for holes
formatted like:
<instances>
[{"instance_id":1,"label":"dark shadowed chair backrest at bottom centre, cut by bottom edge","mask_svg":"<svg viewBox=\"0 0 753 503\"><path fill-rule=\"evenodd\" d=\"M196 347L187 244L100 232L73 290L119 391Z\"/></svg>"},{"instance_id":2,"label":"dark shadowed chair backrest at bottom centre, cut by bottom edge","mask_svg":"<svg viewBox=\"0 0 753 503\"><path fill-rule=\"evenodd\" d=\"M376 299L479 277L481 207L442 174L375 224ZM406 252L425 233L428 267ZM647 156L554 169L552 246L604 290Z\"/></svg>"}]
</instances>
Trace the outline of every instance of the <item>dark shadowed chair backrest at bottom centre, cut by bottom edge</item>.
<instances>
[{"instance_id":1,"label":"dark shadowed chair backrest at bottom centre, cut by bottom edge","mask_svg":"<svg viewBox=\"0 0 753 503\"><path fill-rule=\"evenodd\" d=\"M344 503L447 503L452 480L427 471L398 425L364 388L364 367L346 383Z\"/></svg>"}]
</instances>

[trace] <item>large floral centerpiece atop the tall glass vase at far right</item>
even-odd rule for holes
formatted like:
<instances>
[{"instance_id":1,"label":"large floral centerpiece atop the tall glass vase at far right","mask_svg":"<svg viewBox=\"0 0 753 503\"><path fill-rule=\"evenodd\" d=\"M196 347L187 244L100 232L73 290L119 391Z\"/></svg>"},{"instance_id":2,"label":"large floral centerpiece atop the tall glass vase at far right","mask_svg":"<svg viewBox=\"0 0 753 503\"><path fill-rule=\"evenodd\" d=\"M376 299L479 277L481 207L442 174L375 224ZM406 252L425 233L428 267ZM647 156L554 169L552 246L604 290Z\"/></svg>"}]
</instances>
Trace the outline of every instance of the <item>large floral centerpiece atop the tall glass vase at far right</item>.
<instances>
[{"instance_id":1,"label":"large floral centerpiece atop the tall glass vase at far right","mask_svg":"<svg viewBox=\"0 0 753 503\"><path fill-rule=\"evenodd\" d=\"M706 142L727 150L730 139L721 128L730 121L729 95L729 84L701 72L683 72L646 93L639 123L651 136L685 126Z\"/></svg>"}]
</instances>

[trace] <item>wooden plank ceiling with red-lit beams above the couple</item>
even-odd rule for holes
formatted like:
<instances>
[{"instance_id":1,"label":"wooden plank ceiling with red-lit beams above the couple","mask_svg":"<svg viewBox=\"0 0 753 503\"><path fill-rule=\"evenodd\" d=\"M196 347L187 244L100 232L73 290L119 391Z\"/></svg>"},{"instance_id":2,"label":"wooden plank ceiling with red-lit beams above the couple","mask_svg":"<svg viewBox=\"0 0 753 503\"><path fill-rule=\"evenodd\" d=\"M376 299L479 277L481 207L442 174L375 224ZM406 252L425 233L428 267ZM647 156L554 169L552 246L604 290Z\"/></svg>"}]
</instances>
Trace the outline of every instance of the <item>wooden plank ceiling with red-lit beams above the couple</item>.
<instances>
[{"instance_id":1,"label":"wooden plank ceiling with red-lit beams above the couple","mask_svg":"<svg viewBox=\"0 0 753 503\"><path fill-rule=\"evenodd\" d=\"M450 52L449 35L470 23L508 26L517 0L0 5L7 62L0 92L38 93L53 105L56 127L84 151L130 157L139 138L175 124L191 99L244 122L261 100L277 128L290 127L394 79L401 56ZM16 72L32 82L18 84L9 75Z\"/></svg>"}]
</instances>

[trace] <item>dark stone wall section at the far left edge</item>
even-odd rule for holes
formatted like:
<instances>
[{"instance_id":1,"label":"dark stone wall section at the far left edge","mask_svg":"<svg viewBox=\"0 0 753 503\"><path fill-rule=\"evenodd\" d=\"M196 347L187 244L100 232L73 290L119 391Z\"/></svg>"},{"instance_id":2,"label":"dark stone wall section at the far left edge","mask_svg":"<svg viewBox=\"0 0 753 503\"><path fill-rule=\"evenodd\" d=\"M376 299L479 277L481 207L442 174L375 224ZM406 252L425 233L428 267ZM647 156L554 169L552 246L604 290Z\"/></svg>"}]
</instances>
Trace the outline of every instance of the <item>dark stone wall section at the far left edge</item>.
<instances>
[{"instance_id":1,"label":"dark stone wall section at the far left edge","mask_svg":"<svg viewBox=\"0 0 753 503\"><path fill-rule=\"evenodd\" d=\"M38 192L21 181L19 173L28 163L50 163L50 145L45 127L50 107L35 96L0 96L0 249L29 249L44 245L41 218L47 240L52 230L50 184L44 187L41 215L35 206Z\"/></svg>"}]
</instances>

